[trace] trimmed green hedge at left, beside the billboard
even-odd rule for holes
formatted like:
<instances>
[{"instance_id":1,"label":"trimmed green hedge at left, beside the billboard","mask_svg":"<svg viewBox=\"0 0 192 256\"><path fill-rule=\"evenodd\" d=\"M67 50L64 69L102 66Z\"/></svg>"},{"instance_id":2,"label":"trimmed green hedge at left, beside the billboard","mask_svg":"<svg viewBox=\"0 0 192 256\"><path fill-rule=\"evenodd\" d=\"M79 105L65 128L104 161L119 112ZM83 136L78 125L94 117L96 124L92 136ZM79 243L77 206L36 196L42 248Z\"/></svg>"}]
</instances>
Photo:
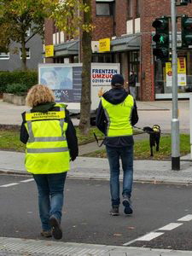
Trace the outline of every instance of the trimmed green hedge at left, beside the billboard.
<instances>
[{"instance_id":1,"label":"trimmed green hedge at left, beside the billboard","mask_svg":"<svg viewBox=\"0 0 192 256\"><path fill-rule=\"evenodd\" d=\"M0 72L0 93L6 92L8 84L25 84L29 89L34 84L38 84L37 71L1 71Z\"/></svg>"}]
</instances>

